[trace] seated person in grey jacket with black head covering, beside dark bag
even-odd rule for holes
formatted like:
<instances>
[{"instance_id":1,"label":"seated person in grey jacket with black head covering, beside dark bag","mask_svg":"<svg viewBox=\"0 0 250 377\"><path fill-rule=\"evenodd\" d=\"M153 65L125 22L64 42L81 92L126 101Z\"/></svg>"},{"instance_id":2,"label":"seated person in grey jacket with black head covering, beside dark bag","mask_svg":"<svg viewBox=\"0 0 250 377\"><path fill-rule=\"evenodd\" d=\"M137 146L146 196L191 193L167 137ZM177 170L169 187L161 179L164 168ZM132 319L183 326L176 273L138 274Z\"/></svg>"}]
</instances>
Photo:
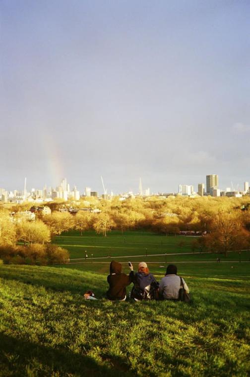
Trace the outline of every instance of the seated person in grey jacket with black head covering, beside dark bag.
<instances>
[{"instance_id":1,"label":"seated person in grey jacket with black head covering, beside dark bag","mask_svg":"<svg viewBox=\"0 0 250 377\"><path fill-rule=\"evenodd\" d=\"M184 289L189 293L187 284L183 280ZM179 290L181 288L181 278L177 275L177 267L174 264L169 264L166 270L166 275L161 279L159 285L159 297L164 300L178 300Z\"/></svg>"}]
</instances>

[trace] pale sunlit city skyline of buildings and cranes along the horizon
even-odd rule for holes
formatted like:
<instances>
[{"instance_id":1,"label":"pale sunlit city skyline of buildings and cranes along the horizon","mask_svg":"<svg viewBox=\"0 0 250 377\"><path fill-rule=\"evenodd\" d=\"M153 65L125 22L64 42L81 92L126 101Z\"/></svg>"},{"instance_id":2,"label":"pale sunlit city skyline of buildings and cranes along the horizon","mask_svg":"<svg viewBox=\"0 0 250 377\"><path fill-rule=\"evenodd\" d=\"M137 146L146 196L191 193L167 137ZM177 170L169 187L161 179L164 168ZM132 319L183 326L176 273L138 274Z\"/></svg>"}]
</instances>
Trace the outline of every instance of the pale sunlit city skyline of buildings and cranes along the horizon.
<instances>
[{"instance_id":1,"label":"pale sunlit city skyline of buildings and cranes along the horizon","mask_svg":"<svg viewBox=\"0 0 250 377\"><path fill-rule=\"evenodd\" d=\"M102 179L102 177L101 177ZM99 196L98 191L91 190L90 187L85 187L83 193L80 195L80 191L74 186L70 189L69 183L67 182L66 178L62 179L62 182L56 188L47 188L45 185L43 189L36 189L32 188L30 191L26 189L26 178L24 181L24 189L22 191L13 190L7 191L4 188L0 188L0 202L2 203L23 203L24 201L28 202L44 202L44 201L52 201L57 198L63 200L79 200L80 197L96 197L96 198L103 198L103 199L110 199L114 196L113 191L110 193L107 192L107 189L104 187L103 179L103 191L104 193ZM150 189L142 189L142 182L141 178L139 179L139 190L138 193L134 194L132 191L128 191L126 193L119 194L121 200L127 197L134 197L134 196L150 196ZM179 185L178 192L170 192L170 193L158 193L152 195L159 195L159 196L169 196L169 195L183 195L183 196L228 196L228 197L241 197L242 195L250 194L249 183L244 182L244 189L239 190L233 187L233 184L230 188L226 188L222 190L219 188L219 178L217 174L211 174L206 176L206 187L204 183L199 183L197 187L197 191L194 190L192 185Z\"/></svg>"}]
</instances>

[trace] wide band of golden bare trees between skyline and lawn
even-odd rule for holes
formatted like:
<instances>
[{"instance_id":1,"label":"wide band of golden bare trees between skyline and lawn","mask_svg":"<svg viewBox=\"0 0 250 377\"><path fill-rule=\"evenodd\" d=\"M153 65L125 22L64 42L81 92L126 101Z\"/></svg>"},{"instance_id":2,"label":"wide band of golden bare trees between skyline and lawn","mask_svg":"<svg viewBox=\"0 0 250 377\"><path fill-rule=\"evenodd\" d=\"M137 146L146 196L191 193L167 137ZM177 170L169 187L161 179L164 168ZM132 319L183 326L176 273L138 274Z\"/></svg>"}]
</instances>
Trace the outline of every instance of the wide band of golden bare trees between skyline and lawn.
<instances>
[{"instance_id":1,"label":"wide band of golden bare trees between skyline and lawn","mask_svg":"<svg viewBox=\"0 0 250 377\"><path fill-rule=\"evenodd\" d=\"M87 230L95 230L107 236L118 230L147 230L159 234L179 234L192 231L203 237L192 243L193 250L227 252L248 249L250 245L250 197L242 198L188 198L173 196L168 198L127 198L112 200L91 199L75 202L47 203L50 215L39 214L35 221L11 220L9 211L0 208L0 246L14 246L19 241L24 245L46 245L51 239L69 230L82 235ZM78 212L60 212L74 206ZM25 207L26 206L26 207ZM28 209L28 204L15 209ZM100 213L91 212L99 208Z\"/></svg>"}]
</instances>

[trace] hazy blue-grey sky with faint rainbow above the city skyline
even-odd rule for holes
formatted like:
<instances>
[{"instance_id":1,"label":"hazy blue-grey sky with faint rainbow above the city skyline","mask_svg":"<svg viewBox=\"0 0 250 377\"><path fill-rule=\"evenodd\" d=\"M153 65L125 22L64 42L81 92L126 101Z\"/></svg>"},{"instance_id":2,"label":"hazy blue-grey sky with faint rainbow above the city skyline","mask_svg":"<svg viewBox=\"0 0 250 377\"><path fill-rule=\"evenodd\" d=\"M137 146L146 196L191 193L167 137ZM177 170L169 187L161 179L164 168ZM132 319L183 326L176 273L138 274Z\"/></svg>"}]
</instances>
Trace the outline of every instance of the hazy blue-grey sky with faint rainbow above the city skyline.
<instances>
[{"instance_id":1,"label":"hazy blue-grey sky with faint rainbow above the city skyline","mask_svg":"<svg viewBox=\"0 0 250 377\"><path fill-rule=\"evenodd\" d=\"M0 187L250 181L249 1L0 2Z\"/></svg>"}]
</instances>

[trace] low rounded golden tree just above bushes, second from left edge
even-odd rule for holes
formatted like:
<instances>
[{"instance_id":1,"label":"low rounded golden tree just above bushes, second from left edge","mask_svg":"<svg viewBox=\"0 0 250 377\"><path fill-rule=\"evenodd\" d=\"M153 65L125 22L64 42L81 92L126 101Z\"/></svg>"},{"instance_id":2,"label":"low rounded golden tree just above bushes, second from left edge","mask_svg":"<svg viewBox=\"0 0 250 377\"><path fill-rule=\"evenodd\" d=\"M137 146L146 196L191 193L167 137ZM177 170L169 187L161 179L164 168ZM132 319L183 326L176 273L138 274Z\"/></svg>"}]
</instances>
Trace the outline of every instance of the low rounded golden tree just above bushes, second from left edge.
<instances>
[{"instance_id":1,"label":"low rounded golden tree just above bushes, second from left edge","mask_svg":"<svg viewBox=\"0 0 250 377\"><path fill-rule=\"evenodd\" d=\"M17 239L24 244L50 242L50 230L42 221L22 221L17 224Z\"/></svg>"}]
</instances>

